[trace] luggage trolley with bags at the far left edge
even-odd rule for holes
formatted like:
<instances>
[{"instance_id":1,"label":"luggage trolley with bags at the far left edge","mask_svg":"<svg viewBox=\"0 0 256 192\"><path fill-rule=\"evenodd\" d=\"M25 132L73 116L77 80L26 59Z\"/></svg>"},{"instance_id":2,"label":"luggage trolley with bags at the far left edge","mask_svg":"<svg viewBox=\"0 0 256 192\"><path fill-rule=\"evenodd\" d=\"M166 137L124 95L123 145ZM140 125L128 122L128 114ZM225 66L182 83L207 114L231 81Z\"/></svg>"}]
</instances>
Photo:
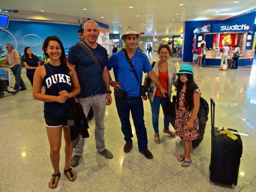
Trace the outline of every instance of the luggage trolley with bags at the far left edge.
<instances>
[{"instance_id":1,"label":"luggage trolley with bags at the far left edge","mask_svg":"<svg viewBox=\"0 0 256 192\"><path fill-rule=\"evenodd\" d=\"M4 95L4 93L11 93L12 95L16 95L17 92L11 87L11 68L12 66L2 66L4 68L8 68L8 72L5 69L0 69L0 96Z\"/></svg>"}]
</instances>

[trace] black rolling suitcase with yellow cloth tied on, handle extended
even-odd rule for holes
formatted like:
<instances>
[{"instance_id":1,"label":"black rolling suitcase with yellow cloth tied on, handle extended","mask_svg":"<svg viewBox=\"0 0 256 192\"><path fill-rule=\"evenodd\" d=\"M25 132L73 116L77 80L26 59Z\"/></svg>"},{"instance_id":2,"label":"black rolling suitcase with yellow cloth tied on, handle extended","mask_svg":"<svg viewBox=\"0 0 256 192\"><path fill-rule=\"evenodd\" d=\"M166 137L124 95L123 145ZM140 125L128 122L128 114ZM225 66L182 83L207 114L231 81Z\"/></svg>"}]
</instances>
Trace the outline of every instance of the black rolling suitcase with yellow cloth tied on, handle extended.
<instances>
[{"instance_id":1,"label":"black rolling suitcase with yellow cloth tied on, handle extended","mask_svg":"<svg viewBox=\"0 0 256 192\"><path fill-rule=\"evenodd\" d=\"M227 134L219 134L218 128L214 127L215 103L211 98L211 124L212 124L212 152L210 162L210 181L236 185L240 158L242 157L243 146L240 135L233 140ZM234 129L228 129L237 132Z\"/></svg>"}]
</instances>

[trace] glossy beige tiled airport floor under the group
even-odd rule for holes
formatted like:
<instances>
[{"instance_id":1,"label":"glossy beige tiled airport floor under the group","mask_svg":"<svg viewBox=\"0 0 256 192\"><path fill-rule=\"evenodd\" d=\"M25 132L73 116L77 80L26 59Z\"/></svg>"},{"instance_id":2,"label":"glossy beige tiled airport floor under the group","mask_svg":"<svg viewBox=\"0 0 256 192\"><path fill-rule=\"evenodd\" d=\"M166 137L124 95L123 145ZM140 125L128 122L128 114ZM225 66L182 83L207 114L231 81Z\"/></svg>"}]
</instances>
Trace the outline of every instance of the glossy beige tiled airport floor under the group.
<instances>
[{"instance_id":1,"label":"glossy beige tiled airport floor under the group","mask_svg":"<svg viewBox=\"0 0 256 192\"><path fill-rule=\"evenodd\" d=\"M158 58L156 52L154 60ZM179 69L182 62L171 58ZM152 57L150 58L152 61ZM112 76L113 73L111 72ZM182 152L180 138L170 138L160 132L161 143L153 141L154 131L148 101L144 101L148 148L154 158L148 160L134 148L123 152L124 136L113 104L105 116L105 140L114 154L106 159L97 154L94 141L94 121L90 122L90 138L84 147L80 164L74 168L77 179L69 182L62 173L56 189L48 188L53 172L49 158L49 143L43 120L43 103L32 98L32 88L22 72L28 90L16 96L0 98L0 191L255 191L256 189L256 66L238 70L218 71L216 68L195 68L195 79L202 97L216 102L216 126L226 126L243 136L244 152L241 159L238 185L229 187L209 180L210 119L203 142L192 150L193 162L182 168L176 156ZM160 114L160 130L163 114ZM170 126L171 127L171 126ZM134 130L134 126L132 125ZM171 128L172 129L172 128ZM64 139L62 140L60 170L64 167Z\"/></svg>"}]
</instances>

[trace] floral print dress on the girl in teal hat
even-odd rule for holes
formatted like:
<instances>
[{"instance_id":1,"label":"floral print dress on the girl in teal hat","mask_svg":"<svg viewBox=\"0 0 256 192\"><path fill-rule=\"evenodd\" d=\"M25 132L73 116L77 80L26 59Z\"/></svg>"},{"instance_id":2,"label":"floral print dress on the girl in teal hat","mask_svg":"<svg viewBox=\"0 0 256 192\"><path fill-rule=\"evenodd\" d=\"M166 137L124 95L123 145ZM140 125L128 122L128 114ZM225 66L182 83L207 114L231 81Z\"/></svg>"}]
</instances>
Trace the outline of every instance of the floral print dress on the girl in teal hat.
<instances>
[{"instance_id":1,"label":"floral print dress on the girl in teal hat","mask_svg":"<svg viewBox=\"0 0 256 192\"><path fill-rule=\"evenodd\" d=\"M199 88L196 88L194 92L198 92L200 94ZM175 136L181 136L185 140L195 140L199 137L199 121L196 116L193 122L193 128L191 130L186 130L187 122L190 120L193 110L188 110L185 107L185 93L186 90L180 91L180 100L179 100L179 109L178 114L175 120Z\"/></svg>"}]
</instances>

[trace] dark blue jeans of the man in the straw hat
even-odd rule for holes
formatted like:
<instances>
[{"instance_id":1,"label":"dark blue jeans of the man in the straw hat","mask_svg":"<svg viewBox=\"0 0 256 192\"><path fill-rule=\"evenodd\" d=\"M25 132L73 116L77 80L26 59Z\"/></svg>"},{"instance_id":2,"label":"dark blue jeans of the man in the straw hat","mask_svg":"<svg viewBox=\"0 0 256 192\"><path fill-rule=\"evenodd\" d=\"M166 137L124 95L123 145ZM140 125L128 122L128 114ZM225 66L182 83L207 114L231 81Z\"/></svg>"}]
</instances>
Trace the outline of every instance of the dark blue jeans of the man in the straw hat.
<instances>
[{"instance_id":1,"label":"dark blue jeans of the man in the straw hat","mask_svg":"<svg viewBox=\"0 0 256 192\"><path fill-rule=\"evenodd\" d=\"M131 97L124 94L123 99L116 99L116 109L121 121L121 129L124 134L124 140L132 140L132 126L130 123L130 111L134 123L136 136L138 139L139 150L148 149L147 130L144 124L143 102L140 96Z\"/></svg>"}]
</instances>

